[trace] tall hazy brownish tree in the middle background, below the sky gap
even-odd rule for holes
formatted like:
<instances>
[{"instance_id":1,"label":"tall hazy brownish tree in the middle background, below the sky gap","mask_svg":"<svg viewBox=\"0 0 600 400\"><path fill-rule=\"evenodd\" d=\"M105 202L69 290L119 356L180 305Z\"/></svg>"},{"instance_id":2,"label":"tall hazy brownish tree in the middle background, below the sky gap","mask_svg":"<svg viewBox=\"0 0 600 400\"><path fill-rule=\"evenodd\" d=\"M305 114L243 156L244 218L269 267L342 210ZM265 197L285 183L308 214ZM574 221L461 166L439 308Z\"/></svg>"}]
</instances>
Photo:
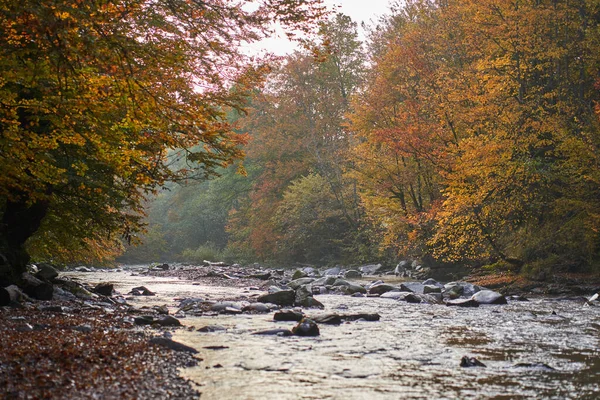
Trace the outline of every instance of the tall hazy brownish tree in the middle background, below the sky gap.
<instances>
[{"instance_id":1,"label":"tall hazy brownish tree in the middle background, below the sky gap","mask_svg":"<svg viewBox=\"0 0 600 400\"><path fill-rule=\"evenodd\" d=\"M339 212L351 227L345 234L360 232L362 212L354 181L346 175L352 135L345 113L363 70L356 24L338 14L322 24L318 41L306 42L304 51L287 57L269 76L242 122L251 136L248 159L260 167L247 201L231 215L232 246L250 246L262 259L290 261L286 249L292 243L287 241L296 238L282 233L273 210L284 201L291 182L313 174L335 200L327 202L335 208L330 212Z\"/></svg>"}]
</instances>

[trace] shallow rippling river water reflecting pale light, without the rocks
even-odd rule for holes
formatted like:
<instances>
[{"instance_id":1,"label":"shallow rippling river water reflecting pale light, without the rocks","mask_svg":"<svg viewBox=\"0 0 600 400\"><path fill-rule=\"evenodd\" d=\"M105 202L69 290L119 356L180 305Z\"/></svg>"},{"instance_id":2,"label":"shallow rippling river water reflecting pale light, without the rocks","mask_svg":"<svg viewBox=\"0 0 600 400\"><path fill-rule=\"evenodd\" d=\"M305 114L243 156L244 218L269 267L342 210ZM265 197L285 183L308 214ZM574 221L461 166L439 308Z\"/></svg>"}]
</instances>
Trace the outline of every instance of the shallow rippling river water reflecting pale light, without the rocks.
<instances>
[{"instance_id":1,"label":"shallow rippling river water reflecting pale light, without the rocks","mask_svg":"<svg viewBox=\"0 0 600 400\"><path fill-rule=\"evenodd\" d=\"M126 293L145 285L156 297L251 296L252 291L192 285L130 273L75 274L89 282L112 281ZM199 385L203 399L596 399L600 398L600 307L577 301L536 299L504 306L453 308L390 299L322 295L323 312L379 313L379 322L320 325L315 338L257 336L291 328L272 314L188 317L186 326L221 325L226 331L178 330L174 339L198 349L203 361L182 375ZM553 312L555 314L553 314ZM211 350L207 347L226 347ZM461 368L462 356L487 368ZM519 368L544 363L555 370Z\"/></svg>"}]
</instances>

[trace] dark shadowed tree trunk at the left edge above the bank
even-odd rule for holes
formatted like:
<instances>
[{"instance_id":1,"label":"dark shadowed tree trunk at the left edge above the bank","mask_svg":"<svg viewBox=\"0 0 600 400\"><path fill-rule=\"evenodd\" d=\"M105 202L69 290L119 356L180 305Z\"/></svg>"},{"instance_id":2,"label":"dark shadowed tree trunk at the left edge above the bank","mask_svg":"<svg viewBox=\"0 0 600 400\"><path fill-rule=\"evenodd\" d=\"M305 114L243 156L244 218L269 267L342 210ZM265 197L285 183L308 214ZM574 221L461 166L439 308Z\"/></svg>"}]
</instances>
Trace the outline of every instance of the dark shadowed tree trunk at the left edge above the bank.
<instances>
[{"instance_id":1,"label":"dark shadowed tree trunk at the left edge above the bank","mask_svg":"<svg viewBox=\"0 0 600 400\"><path fill-rule=\"evenodd\" d=\"M25 242L40 227L48 201L6 201L0 223L0 286L18 283L29 262Z\"/></svg>"}]
</instances>

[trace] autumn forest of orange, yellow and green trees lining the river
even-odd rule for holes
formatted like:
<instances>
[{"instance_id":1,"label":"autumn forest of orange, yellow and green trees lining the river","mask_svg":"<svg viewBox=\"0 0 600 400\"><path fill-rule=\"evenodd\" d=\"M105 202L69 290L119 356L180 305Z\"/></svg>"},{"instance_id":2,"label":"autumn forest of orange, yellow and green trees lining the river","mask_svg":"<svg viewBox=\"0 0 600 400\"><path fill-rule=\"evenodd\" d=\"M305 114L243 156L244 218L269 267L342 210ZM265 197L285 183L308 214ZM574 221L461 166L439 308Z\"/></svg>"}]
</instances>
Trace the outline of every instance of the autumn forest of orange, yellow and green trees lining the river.
<instances>
[{"instance_id":1,"label":"autumn forest of orange, yellow and green trees lining the river","mask_svg":"<svg viewBox=\"0 0 600 400\"><path fill-rule=\"evenodd\" d=\"M102 21L122 12L105 10ZM68 18L61 21L68 36ZM256 34L244 30L260 22L248 23L236 34ZM65 79L57 85L66 82L58 96L75 101L68 92L79 91L75 110L45 101L56 90L44 86L52 62L31 73L37 86L18 90L5 63L4 220L19 193L27 207L45 204L39 229L22 237L34 260L64 264L418 259L524 273L598 270L599 1L408 0L364 42L342 14L322 16L317 29L293 54L243 74L232 66L231 77L218 62L198 67L193 58L207 50L189 51L168 34L124 45L147 61L139 65L123 63L125 50L108 51L114 38L80 38L73 46L97 46L88 54L97 59L72 82L91 77L69 87L68 62L56 63ZM215 60L236 59L232 38L209 46L220 51ZM148 65L152 52L190 69ZM114 68L94 72L106 62ZM194 91L192 67L204 68L194 85L218 90ZM148 83L133 85L130 98L107 89L107 80L132 87L127 68ZM23 127L24 108L7 106L16 92L42 109L29 118L33 129ZM23 131L35 146L15 136ZM84 157L90 146L98 151ZM60 162L30 154L40 149L64 154ZM32 158L40 167L23 172Z\"/></svg>"}]
</instances>

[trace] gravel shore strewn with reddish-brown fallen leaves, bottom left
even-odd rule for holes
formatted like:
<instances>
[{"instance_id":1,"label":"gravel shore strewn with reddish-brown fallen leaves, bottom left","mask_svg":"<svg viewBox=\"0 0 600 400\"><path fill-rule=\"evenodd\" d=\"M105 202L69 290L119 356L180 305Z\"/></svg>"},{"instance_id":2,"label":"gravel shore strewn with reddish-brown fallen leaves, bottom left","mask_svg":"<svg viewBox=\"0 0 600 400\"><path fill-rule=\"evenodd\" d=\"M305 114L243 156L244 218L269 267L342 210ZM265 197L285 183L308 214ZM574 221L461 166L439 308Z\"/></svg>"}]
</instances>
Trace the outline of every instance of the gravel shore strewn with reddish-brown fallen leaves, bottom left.
<instances>
[{"instance_id":1,"label":"gravel shore strewn with reddish-brown fallen leaves, bottom left","mask_svg":"<svg viewBox=\"0 0 600 400\"><path fill-rule=\"evenodd\" d=\"M178 373L198 360L151 344L156 330L130 319L89 303L0 307L0 398L199 398Z\"/></svg>"}]
</instances>

